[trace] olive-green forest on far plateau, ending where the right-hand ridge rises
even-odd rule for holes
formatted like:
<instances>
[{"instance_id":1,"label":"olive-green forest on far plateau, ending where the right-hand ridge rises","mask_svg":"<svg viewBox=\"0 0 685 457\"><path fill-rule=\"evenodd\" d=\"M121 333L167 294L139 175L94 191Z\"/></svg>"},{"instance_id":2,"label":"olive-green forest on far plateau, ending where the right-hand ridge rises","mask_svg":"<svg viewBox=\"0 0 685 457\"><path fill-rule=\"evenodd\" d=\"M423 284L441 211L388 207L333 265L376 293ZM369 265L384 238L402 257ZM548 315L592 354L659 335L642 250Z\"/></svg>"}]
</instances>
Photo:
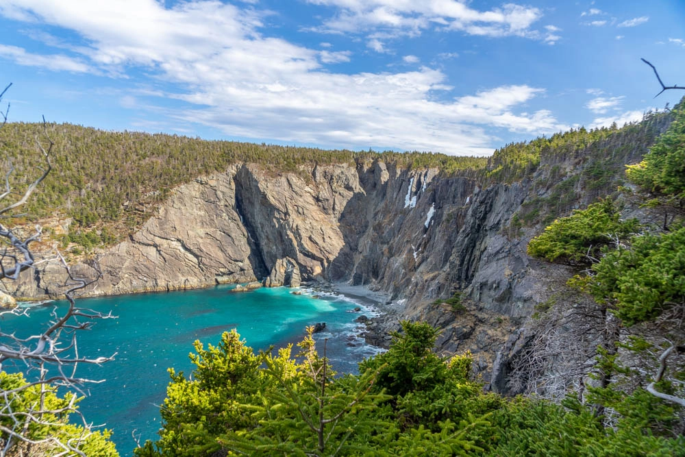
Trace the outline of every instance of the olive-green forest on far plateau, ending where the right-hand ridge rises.
<instances>
[{"instance_id":1,"label":"olive-green forest on far plateau, ending where the right-hand ridge rises","mask_svg":"<svg viewBox=\"0 0 685 457\"><path fill-rule=\"evenodd\" d=\"M43 165L33 143L34 137L42 138L42 127L36 123L8 123L0 130L3 153L16 168L12 184L18 193L35 179ZM406 168L435 167L445 175L475 175L487 162L486 158L439 153L326 151L167 134L105 132L71 124L49 124L48 133L55 142L53 170L23 211L38 218L71 217L76 229L105 225L115 235L147 220L175 186L201 175L223 172L232 164L255 163L272 173L302 174L304 165L354 166L383 160ZM112 242L110 238L103 240ZM88 251L79 240L74 243Z\"/></svg>"}]
</instances>

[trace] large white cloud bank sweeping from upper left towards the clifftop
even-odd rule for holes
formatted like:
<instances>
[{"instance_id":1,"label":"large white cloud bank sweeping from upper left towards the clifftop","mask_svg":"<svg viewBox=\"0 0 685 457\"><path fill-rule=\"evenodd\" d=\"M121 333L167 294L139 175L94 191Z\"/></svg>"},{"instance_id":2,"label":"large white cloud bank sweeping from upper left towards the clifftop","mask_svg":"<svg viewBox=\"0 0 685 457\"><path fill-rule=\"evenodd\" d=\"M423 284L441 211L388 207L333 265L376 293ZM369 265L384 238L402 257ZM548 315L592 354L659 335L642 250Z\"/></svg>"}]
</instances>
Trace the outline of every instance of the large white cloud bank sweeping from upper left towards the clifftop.
<instances>
[{"instance_id":1,"label":"large white cloud bank sweeping from upper left towards the clifftop","mask_svg":"<svg viewBox=\"0 0 685 457\"><path fill-rule=\"evenodd\" d=\"M456 2L429 3L454 8L462 24L489 23L510 32L524 31L539 15L523 7L475 12ZM350 53L262 36L261 18L252 8L218 1L166 8L154 0L8 0L5 5L10 6L2 11L11 7L14 17L67 29L84 43L61 58L4 46L5 58L52 71L94 69L123 76L135 71L150 84L171 83L164 86L164 97L192 108L157 107L160 121L201 123L227 136L484 155L493 140L486 127L525 133L566 128L547 110L521 112L542 88L501 86L449 99L447 76L427 66L399 73L334 73L327 64L345 62ZM405 20L390 10L373 17L385 23ZM384 50L380 41L377 50ZM153 89L157 94L158 87ZM151 109L141 108L134 97L121 103Z\"/></svg>"}]
</instances>

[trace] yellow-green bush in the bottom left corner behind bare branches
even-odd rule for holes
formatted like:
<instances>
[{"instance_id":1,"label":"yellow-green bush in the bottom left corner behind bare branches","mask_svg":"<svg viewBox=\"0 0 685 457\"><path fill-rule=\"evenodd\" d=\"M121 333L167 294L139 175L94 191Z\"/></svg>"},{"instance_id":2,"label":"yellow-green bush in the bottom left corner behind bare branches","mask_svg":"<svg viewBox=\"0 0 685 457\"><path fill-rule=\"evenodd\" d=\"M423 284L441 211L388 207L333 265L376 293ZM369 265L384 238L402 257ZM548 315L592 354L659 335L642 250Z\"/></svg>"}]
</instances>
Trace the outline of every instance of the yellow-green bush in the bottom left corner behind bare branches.
<instances>
[{"instance_id":1,"label":"yellow-green bush in the bottom left corner behind bare branches","mask_svg":"<svg viewBox=\"0 0 685 457\"><path fill-rule=\"evenodd\" d=\"M89 457L115 457L114 443L110 441L108 430L91 432L81 425L69 423L69 417L75 412L72 406L78 400L73 393L66 393L59 397L57 388L41 391L40 385L29 386L21 373L6 373L0 371L0 391L8 397L6 406L0 414L0 426L8 430L22 430L26 439L39 442L37 444L18 442L14 446L12 455L53 456L61 454L65 448L55 443L69 443ZM36 410L41 404L44 412L40 418L29 418L29 412ZM8 415L12 412L12 417ZM16 422L18 420L18 423ZM8 440L8 433L0 430L0 445L4 446ZM73 455L73 454L69 454Z\"/></svg>"}]
</instances>

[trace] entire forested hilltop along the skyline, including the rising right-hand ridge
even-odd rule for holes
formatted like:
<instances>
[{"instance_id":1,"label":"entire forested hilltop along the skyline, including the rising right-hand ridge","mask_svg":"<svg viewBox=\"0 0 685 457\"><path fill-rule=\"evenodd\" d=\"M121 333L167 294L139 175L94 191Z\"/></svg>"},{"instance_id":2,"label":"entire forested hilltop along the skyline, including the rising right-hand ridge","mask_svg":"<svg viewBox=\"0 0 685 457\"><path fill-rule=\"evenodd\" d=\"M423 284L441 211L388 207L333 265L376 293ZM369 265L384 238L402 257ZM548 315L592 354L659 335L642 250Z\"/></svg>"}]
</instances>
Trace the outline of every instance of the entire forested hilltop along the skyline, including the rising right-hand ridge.
<instances>
[{"instance_id":1,"label":"entire forested hilltop along the skyline, including the rising right-hand ridge","mask_svg":"<svg viewBox=\"0 0 685 457\"><path fill-rule=\"evenodd\" d=\"M199 138L141 132L106 132L71 124L8 123L0 131L5 156L16 171L21 190L40 173L43 158L36 141L55 143L53 170L34 193L23 213L34 219L58 216L71 219L62 248L71 243L75 252L112 245L134 232L169 196L175 186L230 164L259 164L271 173L299 173L306 179L316 164L356 164L376 160L401 168L440 170L445 176L473 177L484 184L531 179L540 164L551 166L549 177L536 186L553 190L546 201L524 210L524 223L548 221L568 211L574 192L603 195L606 186L621 175L624 163L637 158L669 123L667 112L645 114L640 123L625 127L583 127L570 132L512 143L490 158L446 156L440 153L397 153L324 150L266 144L208 141ZM612 151L608 156L606 151ZM564 180L570 170L554 166L574 156L584 174ZM578 180L587 186L577 186ZM561 186L558 184L563 182ZM574 190L575 186L575 190ZM540 216L543 213L544 216ZM49 230L48 230L49 232Z\"/></svg>"}]
</instances>

